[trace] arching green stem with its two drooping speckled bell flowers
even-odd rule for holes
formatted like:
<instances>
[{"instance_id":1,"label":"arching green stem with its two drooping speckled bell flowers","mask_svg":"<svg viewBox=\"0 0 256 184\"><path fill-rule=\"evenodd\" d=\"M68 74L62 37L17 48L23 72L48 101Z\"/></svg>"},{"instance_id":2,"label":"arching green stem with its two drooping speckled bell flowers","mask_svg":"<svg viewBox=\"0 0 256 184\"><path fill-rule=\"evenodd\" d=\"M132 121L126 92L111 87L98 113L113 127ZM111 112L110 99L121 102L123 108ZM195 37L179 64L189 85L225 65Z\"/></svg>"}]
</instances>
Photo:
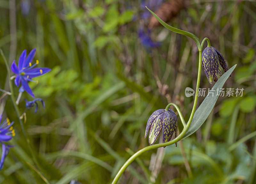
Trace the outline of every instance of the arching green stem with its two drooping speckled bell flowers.
<instances>
[{"instance_id":1,"label":"arching green stem with its two drooping speckled bell flowers","mask_svg":"<svg viewBox=\"0 0 256 184\"><path fill-rule=\"evenodd\" d=\"M120 170L116 174L116 177L114 178L112 184L117 183L117 181L121 177L122 173L124 173L125 169L132 163L132 161L134 161L142 153L144 153L148 150L153 150L153 149L157 149L157 148L160 148L160 147L169 146L169 145L172 145L174 143L177 144L177 142L179 142L181 139L188 136L188 135L186 135L186 133L189 134L192 131L192 130L189 130L189 127L191 125L192 119L193 119L195 111L196 111L196 105L197 105L197 100L198 100L198 90L197 89L199 88L199 84L200 84L201 65L203 65L204 71L205 71L206 76L207 76L210 83L212 83L212 81L218 81L220 79L220 76L222 75L221 67L224 69L225 72L228 70L228 66L226 64L226 61L225 61L224 57L220 54L220 52L218 50L216 50L214 47L211 47L211 44L210 44L210 41L209 41L208 38L204 38L204 40L200 44L196 35L194 35L192 33L189 33L187 31L177 29L175 27L172 27L172 26L166 24L154 12L152 12L151 10L149 10L149 11L167 29L169 29L169 30L171 30L175 33L179 33L179 34L188 36L189 38L191 38L192 40L195 41L195 43L198 47L198 52L199 52L198 75L197 75L197 82L196 82L195 100L194 100L193 108L192 108L192 111L191 111L191 114L190 114L190 117L189 117L187 123L185 123L185 120L184 120L184 118L181 114L181 111L180 111L179 107L176 104L173 104L173 103L168 104L165 109L159 109L159 110L156 110L155 112L153 112L153 114L148 119L148 123L147 123L147 126L146 126L146 133L145 133L145 138L146 138L146 136L148 134L148 131L149 131L149 144L150 144L150 146L147 146L147 147L137 151L135 154L133 154L124 163L124 165L120 168ZM208 45L207 45L207 48L204 50L203 55L202 55L203 45L204 45L205 41L207 41ZM234 69L235 66L233 66L232 68ZM222 80L222 82L223 82L223 80ZM223 82L223 84L224 84L224 82ZM217 100L217 98L216 98L216 100ZM214 102L214 104L215 104L215 102ZM184 127L183 130L181 131L181 133L178 136L176 134L178 119L177 119L177 116L175 115L175 113L171 109L169 109L169 107L171 105L173 105L176 108L176 110L178 111L181 123ZM212 108L213 108L213 106L212 106ZM207 109L207 110L209 111L209 109ZM209 111L209 114L210 114L210 111ZM199 119L199 118L197 117L197 119ZM203 119L203 118L201 118L201 119ZM196 129L196 128L198 129L199 127L197 127L197 125L195 125L192 129ZM161 130L163 130L163 143L153 145L156 142L156 139L159 136ZM173 140L171 140L171 135L173 134L173 131L175 132L175 138Z\"/></svg>"}]
</instances>

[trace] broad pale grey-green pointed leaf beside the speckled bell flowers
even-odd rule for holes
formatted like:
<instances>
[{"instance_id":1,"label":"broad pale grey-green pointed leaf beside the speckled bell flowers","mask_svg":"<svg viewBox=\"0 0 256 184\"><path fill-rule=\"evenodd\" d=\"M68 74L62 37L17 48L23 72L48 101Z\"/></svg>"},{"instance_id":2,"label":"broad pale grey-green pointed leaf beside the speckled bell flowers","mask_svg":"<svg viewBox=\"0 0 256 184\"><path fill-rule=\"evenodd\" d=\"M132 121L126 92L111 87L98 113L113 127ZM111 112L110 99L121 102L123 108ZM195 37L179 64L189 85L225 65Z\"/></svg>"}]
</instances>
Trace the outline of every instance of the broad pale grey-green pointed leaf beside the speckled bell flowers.
<instances>
[{"instance_id":1,"label":"broad pale grey-green pointed leaf beside the speckled bell flowers","mask_svg":"<svg viewBox=\"0 0 256 184\"><path fill-rule=\"evenodd\" d=\"M234 65L232 68L230 68L226 73L224 73L220 79L215 83L215 85L212 87L211 91L213 91L210 95L207 95L202 102L202 104L198 107L196 110L194 117L192 119L192 122L190 124L190 127L188 128L188 131L184 135L183 139L188 137L189 135L196 132L196 130L201 127L204 123L204 121L207 119L209 114L211 113L219 95L217 95L217 88L222 88L224 83L227 81L229 75L233 72L233 70L236 68L236 65Z\"/></svg>"}]
</instances>

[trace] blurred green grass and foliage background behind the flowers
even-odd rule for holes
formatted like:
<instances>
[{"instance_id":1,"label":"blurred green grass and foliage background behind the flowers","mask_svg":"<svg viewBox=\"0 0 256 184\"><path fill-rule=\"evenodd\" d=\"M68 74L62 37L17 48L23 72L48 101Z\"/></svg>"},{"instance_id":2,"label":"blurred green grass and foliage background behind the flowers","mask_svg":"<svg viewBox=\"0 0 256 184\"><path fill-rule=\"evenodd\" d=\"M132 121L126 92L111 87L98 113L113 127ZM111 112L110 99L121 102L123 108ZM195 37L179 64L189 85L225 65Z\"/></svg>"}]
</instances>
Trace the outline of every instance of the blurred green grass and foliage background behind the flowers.
<instances>
[{"instance_id":1,"label":"blurred green grass and foliage background behind the flowers","mask_svg":"<svg viewBox=\"0 0 256 184\"><path fill-rule=\"evenodd\" d=\"M160 26L152 35L162 40L162 46L143 47L138 30L145 21L140 15L147 10L140 1L30 3L24 15L20 0L0 0L0 47L10 64L18 61L22 50L37 48L39 65L52 68L38 78L39 84L31 84L46 108L39 105L36 114L33 109L26 113L25 128L40 167L32 160L5 96L1 104L15 121L16 136L0 183L45 183L42 178L52 184L73 179L109 183L133 152L148 146L144 133L153 111L174 102L188 120L193 97L184 92L196 86L196 44ZM201 41L208 37L229 67L237 64L224 88L244 88L244 94L220 97L195 134L177 148L143 154L120 183L256 183L255 12L253 1L191 0L169 22ZM147 25L147 20L143 23ZM2 58L0 71L0 87L8 89ZM212 86L202 71L200 87ZM31 99L25 93L23 97ZM25 110L23 98L19 107Z\"/></svg>"}]
</instances>

